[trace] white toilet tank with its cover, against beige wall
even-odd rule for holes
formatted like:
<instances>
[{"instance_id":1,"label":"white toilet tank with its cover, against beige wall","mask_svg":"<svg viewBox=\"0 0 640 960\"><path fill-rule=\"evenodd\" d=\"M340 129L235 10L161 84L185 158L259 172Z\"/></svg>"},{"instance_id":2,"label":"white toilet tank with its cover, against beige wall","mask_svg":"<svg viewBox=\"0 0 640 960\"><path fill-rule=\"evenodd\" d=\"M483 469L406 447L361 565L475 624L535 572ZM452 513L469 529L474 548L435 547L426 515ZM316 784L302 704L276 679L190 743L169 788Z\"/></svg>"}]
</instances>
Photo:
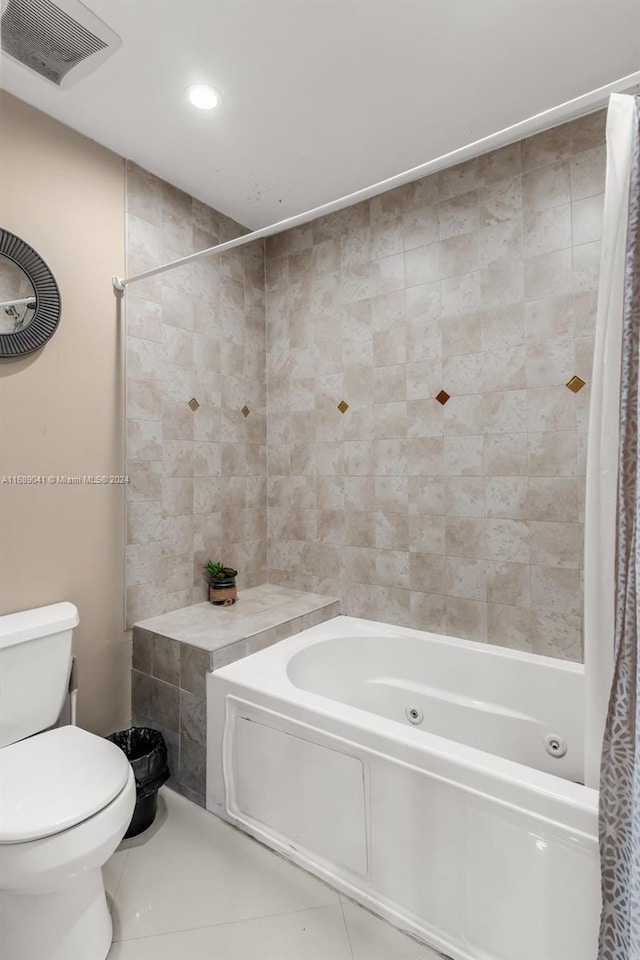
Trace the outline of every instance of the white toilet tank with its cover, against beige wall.
<instances>
[{"instance_id":1,"label":"white toilet tank with its cover, against beige wall","mask_svg":"<svg viewBox=\"0 0 640 960\"><path fill-rule=\"evenodd\" d=\"M0 748L46 730L60 716L78 622L72 603L0 617Z\"/></svg>"}]
</instances>

